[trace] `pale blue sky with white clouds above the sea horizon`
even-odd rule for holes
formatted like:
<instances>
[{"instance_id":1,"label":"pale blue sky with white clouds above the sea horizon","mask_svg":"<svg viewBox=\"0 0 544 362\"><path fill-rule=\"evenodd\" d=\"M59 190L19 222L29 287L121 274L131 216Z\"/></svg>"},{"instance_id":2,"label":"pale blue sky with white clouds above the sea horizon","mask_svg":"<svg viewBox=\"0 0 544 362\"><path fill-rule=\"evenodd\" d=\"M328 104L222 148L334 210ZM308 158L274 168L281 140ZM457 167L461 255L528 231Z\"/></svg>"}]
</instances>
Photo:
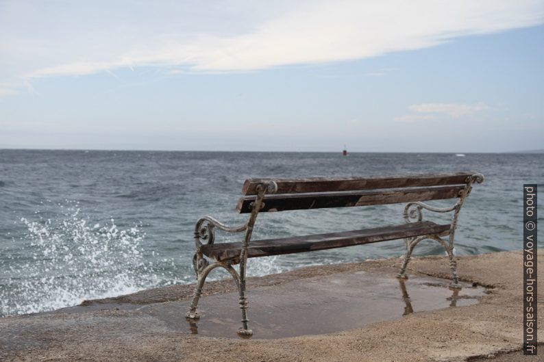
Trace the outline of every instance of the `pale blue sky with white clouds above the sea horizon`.
<instances>
[{"instance_id":1,"label":"pale blue sky with white clouds above the sea horizon","mask_svg":"<svg viewBox=\"0 0 544 362\"><path fill-rule=\"evenodd\" d=\"M0 0L0 148L544 148L544 1Z\"/></svg>"}]
</instances>

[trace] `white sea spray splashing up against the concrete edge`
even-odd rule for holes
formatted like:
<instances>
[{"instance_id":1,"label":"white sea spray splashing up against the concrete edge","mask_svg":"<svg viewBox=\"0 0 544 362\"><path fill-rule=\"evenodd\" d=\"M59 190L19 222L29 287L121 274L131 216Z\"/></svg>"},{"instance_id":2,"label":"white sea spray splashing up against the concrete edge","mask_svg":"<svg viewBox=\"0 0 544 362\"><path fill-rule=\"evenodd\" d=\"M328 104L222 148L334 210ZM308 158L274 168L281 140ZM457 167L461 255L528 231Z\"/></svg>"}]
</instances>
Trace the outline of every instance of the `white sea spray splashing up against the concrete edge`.
<instances>
[{"instance_id":1,"label":"white sea spray splashing up against the concrete edge","mask_svg":"<svg viewBox=\"0 0 544 362\"><path fill-rule=\"evenodd\" d=\"M161 273L143 257L140 227L119 229L113 219L89 223L74 202L62 210L53 220L21 218L27 232L4 261L0 315L49 311L160 283Z\"/></svg>"}]
</instances>

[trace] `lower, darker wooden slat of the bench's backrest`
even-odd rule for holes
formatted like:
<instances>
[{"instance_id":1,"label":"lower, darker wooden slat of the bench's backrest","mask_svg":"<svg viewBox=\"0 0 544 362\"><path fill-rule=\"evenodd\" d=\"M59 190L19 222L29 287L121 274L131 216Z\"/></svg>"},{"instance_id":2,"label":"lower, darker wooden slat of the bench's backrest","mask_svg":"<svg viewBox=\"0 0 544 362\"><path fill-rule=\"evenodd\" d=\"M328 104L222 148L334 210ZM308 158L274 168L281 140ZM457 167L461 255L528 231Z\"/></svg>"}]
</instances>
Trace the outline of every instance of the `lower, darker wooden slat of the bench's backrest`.
<instances>
[{"instance_id":1,"label":"lower, darker wooden slat of the bench's backrest","mask_svg":"<svg viewBox=\"0 0 544 362\"><path fill-rule=\"evenodd\" d=\"M430 188L402 188L375 191L315 192L308 194L271 194L264 196L260 212L322 209L325 207L351 207L409 203L411 201L440 200L459 196L465 185L434 186ZM251 212L256 196L243 196L236 211Z\"/></svg>"}]
</instances>

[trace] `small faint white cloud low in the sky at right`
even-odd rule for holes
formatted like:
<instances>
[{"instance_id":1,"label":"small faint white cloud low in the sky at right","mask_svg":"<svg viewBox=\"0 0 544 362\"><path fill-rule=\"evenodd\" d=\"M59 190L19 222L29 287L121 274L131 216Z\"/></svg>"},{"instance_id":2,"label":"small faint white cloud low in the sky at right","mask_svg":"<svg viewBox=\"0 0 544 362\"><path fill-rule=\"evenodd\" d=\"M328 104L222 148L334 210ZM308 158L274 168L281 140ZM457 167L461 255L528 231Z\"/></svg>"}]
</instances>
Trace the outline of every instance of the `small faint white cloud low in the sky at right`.
<instances>
[{"instance_id":1,"label":"small faint white cloud low in the sky at right","mask_svg":"<svg viewBox=\"0 0 544 362\"><path fill-rule=\"evenodd\" d=\"M448 118L461 118L464 116L473 116L477 112L491 109L491 107L482 102L471 105L461 103L422 103L410 105L408 109L416 113L398 116L395 117L395 120L399 122L417 122L419 120L443 118L444 116Z\"/></svg>"}]
</instances>

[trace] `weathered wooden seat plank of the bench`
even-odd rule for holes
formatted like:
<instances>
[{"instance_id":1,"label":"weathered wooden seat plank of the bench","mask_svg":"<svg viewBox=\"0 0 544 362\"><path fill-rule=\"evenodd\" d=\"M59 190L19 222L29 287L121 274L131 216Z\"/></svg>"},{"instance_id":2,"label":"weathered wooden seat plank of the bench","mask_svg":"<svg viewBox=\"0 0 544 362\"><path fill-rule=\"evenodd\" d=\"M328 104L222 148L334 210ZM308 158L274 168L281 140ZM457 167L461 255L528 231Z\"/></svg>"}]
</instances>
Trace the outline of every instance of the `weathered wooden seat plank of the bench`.
<instances>
[{"instance_id":1,"label":"weathered wooden seat plank of the bench","mask_svg":"<svg viewBox=\"0 0 544 362\"><path fill-rule=\"evenodd\" d=\"M431 221L412 222L392 227L378 227L341 233L327 233L299 237L284 237L281 239L255 240L249 243L248 257L266 257L269 255L303 253L314 250L342 248L386 240L397 240L404 237L413 237L428 234L447 232L450 225L439 225ZM231 242L203 245L204 255L219 261L231 260L238 262L242 243Z\"/></svg>"}]
</instances>

